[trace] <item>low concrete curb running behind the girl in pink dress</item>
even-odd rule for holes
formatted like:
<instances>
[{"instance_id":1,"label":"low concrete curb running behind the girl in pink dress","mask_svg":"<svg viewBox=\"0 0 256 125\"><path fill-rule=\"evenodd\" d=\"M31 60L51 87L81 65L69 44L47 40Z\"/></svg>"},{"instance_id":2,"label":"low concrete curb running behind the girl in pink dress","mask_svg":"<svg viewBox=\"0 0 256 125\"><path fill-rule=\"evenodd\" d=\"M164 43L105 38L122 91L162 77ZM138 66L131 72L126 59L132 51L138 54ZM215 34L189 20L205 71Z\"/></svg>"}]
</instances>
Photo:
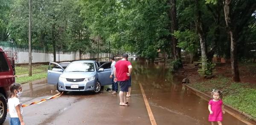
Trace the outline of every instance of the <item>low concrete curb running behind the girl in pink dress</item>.
<instances>
[{"instance_id":1,"label":"low concrete curb running behind the girl in pink dress","mask_svg":"<svg viewBox=\"0 0 256 125\"><path fill-rule=\"evenodd\" d=\"M196 95L203 98L206 101L209 101L210 99L212 99L211 96L207 95L206 93L203 93L199 90L196 90L193 87L190 87L187 84L183 84L184 86L188 87L189 89L195 91ZM224 104L224 109L227 113L229 113L230 115L236 117L237 119L241 120L242 122L244 122L247 125L256 125L256 119L253 119L252 116L248 115L247 113L242 112L241 110L237 110L235 108L233 108L230 105L226 105ZM237 115L239 114L239 115Z\"/></svg>"}]
</instances>

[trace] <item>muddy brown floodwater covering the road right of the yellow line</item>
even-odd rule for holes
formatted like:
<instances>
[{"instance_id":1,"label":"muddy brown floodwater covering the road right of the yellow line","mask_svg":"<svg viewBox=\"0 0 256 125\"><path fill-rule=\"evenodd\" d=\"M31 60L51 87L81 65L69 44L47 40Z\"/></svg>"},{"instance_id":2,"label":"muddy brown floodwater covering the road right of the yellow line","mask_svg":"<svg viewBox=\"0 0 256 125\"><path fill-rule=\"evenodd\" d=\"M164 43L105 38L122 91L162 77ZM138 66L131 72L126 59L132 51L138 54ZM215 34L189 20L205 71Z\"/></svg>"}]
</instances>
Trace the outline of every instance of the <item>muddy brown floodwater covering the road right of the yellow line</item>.
<instances>
[{"instance_id":1,"label":"muddy brown floodwater covering the road right of the yellow line","mask_svg":"<svg viewBox=\"0 0 256 125\"><path fill-rule=\"evenodd\" d=\"M141 83L159 125L210 125L208 102L181 84L164 63L133 61L133 84ZM246 125L224 114L223 125Z\"/></svg>"}]
</instances>

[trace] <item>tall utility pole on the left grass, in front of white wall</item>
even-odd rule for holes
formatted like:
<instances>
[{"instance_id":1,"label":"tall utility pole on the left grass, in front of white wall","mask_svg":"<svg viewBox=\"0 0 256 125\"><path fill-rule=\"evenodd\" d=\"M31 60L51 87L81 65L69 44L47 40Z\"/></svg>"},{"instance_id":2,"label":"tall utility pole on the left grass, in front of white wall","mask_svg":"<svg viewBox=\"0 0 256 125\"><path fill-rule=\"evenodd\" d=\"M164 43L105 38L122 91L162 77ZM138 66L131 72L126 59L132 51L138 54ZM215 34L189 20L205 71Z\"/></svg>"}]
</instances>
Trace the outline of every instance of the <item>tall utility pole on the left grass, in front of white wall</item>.
<instances>
[{"instance_id":1,"label":"tall utility pole on the left grass, in front of white wall","mask_svg":"<svg viewBox=\"0 0 256 125\"><path fill-rule=\"evenodd\" d=\"M29 0L29 76L32 76L32 58L31 58L31 0Z\"/></svg>"}]
</instances>

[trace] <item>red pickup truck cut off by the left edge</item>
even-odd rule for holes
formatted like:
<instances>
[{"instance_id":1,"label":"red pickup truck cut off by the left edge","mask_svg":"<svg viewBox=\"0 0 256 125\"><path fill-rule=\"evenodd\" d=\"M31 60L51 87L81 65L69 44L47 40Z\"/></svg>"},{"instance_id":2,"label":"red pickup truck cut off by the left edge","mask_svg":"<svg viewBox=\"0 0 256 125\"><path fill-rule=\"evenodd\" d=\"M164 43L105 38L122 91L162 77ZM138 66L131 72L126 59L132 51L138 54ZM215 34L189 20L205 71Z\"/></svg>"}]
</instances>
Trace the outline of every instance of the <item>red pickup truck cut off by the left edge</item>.
<instances>
[{"instance_id":1,"label":"red pickup truck cut off by the left edge","mask_svg":"<svg viewBox=\"0 0 256 125\"><path fill-rule=\"evenodd\" d=\"M0 48L0 124L6 119L9 87L15 82L14 60L10 59Z\"/></svg>"}]
</instances>

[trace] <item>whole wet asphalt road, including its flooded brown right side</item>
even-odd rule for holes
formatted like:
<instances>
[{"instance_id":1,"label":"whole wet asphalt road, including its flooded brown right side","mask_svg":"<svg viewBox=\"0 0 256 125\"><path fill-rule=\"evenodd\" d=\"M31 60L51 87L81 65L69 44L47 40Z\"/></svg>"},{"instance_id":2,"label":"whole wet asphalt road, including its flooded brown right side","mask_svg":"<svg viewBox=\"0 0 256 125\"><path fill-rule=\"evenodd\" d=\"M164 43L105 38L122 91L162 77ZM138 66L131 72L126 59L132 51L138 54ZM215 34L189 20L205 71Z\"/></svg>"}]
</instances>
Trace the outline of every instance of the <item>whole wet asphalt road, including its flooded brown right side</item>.
<instances>
[{"instance_id":1,"label":"whole wet asphalt road, including its flooded brown right side","mask_svg":"<svg viewBox=\"0 0 256 125\"><path fill-rule=\"evenodd\" d=\"M23 108L26 125L151 125L139 83L143 85L157 125L211 125L208 102L180 84L164 64L133 61L130 106L119 106L118 95L69 92ZM23 84L21 102L29 104L55 95L46 80ZM9 125L9 114L3 125ZM223 125L245 125L224 114Z\"/></svg>"}]
</instances>

